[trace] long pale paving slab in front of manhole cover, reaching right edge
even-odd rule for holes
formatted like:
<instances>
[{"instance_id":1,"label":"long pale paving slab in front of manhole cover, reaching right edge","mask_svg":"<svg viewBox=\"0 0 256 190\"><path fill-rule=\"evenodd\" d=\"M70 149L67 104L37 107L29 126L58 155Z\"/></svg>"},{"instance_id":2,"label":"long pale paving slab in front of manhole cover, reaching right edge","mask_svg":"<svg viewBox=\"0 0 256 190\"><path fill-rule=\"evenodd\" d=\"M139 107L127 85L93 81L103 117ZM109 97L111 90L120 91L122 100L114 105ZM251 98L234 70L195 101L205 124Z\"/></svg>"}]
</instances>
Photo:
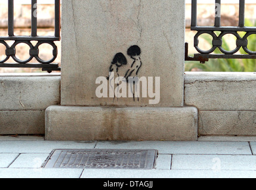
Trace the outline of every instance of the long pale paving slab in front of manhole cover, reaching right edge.
<instances>
[{"instance_id":1,"label":"long pale paving slab in front of manhole cover, reaching right edge","mask_svg":"<svg viewBox=\"0 0 256 190\"><path fill-rule=\"evenodd\" d=\"M212 170L96 170L85 169L81 178L256 178L255 171ZM150 180L149 180L150 181ZM153 184L154 185L154 184Z\"/></svg>"}]
</instances>

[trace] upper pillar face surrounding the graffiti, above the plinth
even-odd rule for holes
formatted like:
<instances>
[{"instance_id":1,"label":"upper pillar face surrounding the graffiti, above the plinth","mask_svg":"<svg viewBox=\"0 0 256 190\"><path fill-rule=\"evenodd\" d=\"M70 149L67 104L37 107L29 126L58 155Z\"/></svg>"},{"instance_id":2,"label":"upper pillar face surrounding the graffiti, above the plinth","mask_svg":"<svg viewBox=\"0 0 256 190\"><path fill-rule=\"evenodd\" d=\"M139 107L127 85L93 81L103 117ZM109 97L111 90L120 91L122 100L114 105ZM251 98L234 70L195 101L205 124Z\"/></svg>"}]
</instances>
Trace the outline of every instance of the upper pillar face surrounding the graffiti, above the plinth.
<instances>
[{"instance_id":1,"label":"upper pillar face surrounding the graffiti, above the plinth","mask_svg":"<svg viewBox=\"0 0 256 190\"><path fill-rule=\"evenodd\" d=\"M184 0L63 1L61 105L183 106L184 8ZM95 96L95 80L109 75L116 53L131 67L133 45L141 49L138 77L161 77L158 105Z\"/></svg>"}]
</instances>

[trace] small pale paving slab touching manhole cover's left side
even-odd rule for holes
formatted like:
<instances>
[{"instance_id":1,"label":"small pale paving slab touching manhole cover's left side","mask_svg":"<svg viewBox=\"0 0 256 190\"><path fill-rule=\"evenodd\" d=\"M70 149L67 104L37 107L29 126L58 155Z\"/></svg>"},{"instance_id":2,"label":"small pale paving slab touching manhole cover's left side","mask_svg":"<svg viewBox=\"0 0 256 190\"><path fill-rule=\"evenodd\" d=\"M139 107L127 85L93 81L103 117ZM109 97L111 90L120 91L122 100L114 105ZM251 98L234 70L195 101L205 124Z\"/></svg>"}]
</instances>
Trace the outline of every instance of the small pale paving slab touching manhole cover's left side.
<instances>
[{"instance_id":1,"label":"small pale paving slab touching manhole cover's left side","mask_svg":"<svg viewBox=\"0 0 256 190\"><path fill-rule=\"evenodd\" d=\"M10 165L10 168L39 168L49 155L50 154L48 153L20 154L20 156L18 156L17 159Z\"/></svg>"}]
</instances>

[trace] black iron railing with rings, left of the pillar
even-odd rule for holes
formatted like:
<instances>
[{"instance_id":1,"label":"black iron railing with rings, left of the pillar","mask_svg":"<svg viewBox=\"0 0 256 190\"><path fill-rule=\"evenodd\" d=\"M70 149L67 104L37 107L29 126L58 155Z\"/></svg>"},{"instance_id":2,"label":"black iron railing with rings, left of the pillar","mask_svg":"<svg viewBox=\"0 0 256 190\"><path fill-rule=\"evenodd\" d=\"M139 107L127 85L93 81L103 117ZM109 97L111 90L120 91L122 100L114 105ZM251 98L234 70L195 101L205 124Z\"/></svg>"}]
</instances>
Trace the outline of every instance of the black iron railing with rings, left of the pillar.
<instances>
[{"instance_id":1,"label":"black iron railing with rings, left of the pillar","mask_svg":"<svg viewBox=\"0 0 256 190\"><path fill-rule=\"evenodd\" d=\"M54 36L38 36L37 35L37 0L31 0L31 35L30 36L14 36L14 0L8 0L8 36L0 36L0 43L5 49L5 59L0 60L0 67L17 67L17 68L42 68L42 71L60 71L58 64L53 64L57 58L57 46L55 41L60 40L60 0L55 0L55 33ZM14 41L9 46L6 41ZM37 41L36 45L32 45L31 41ZM16 56L16 46L19 43L25 43L30 47L29 58L20 60ZM53 58L44 61L39 58L39 46L47 43L53 47ZM9 58L13 58L16 63L6 63ZM38 64L29 64L35 58Z\"/></svg>"}]
</instances>

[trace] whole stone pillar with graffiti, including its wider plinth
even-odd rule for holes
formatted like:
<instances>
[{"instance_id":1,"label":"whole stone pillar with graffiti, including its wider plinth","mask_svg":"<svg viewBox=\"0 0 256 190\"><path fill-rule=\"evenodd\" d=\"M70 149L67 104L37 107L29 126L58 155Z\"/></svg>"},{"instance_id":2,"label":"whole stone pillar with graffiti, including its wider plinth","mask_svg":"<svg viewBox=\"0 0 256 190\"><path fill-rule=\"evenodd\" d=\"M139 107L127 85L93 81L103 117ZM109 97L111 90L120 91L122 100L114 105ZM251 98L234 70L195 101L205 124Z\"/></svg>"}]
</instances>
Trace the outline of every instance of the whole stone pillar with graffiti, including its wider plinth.
<instances>
[{"instance_id":1,"label":"whole stone pillar with graffiti, including its wider plinth","mask_svg":"<svg viewBox=\"0 0 256 190\"><path fill-rule=\"evenodd\" d=\"M184 7L63 1L61 106L47 109L46 138L195 140L197 110L183 107Z\"/></svg>"}]
</instances>

